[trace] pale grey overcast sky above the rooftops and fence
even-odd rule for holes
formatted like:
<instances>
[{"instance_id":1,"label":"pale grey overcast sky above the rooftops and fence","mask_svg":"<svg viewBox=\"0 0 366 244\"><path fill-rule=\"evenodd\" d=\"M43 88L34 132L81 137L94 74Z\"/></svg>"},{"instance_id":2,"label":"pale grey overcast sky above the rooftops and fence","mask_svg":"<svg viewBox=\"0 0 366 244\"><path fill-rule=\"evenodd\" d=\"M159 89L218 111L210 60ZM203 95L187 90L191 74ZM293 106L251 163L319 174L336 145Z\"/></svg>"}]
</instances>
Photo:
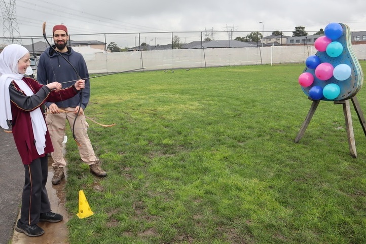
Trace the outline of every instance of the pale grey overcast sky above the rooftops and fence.
<instances>
[{"instance_id":1,"label":"pale grey overcast sky above the rooftops and fence","mask_svg":"<svg viewBox=\"0 0 366 244\"><path fill-rule=\"evenodd\" d=\"M5 0L10 2L11 0ZM291 36L296 26L304 26L313 34L327 23L347 24L351 31L366 31L366 2L364 0L308 0L308 1L245 1L245 0L16 0L17 22L21 36L42 36L55 24L63 23L72 34L135 33L162 31L264 31L268 36L274 30ZM3 17L1 21L3 21ZM263 22L260 23L260 22ZM3 22L2 22L3 23ZM3 24L0 25L3 33ZM136 34L134 35L136 37ZM147 36L147 35L145 35ZM184 34L178 34L184 39ZM148 39L156 44L154 34ZM97 37L96 39L100 39ZM187 39L187 38L186 38ZM214 39L228 39L228 36ZM146 40L146 37L145 37ZM143 40L143 41L145 41ZM159 40L159 39L158 39ZM104 41L104 40L99 40ZM135 41L135 40L134 40ZM182 40L185 41L185 40ZM118 43L120 47L131 45ZM158 41L159 42L159 41ZM107 42L108 43L108 42ZM147 42L149 43L149 41ZM163 43L161 43L163 44Z\"/></svg>"}]
</instances>

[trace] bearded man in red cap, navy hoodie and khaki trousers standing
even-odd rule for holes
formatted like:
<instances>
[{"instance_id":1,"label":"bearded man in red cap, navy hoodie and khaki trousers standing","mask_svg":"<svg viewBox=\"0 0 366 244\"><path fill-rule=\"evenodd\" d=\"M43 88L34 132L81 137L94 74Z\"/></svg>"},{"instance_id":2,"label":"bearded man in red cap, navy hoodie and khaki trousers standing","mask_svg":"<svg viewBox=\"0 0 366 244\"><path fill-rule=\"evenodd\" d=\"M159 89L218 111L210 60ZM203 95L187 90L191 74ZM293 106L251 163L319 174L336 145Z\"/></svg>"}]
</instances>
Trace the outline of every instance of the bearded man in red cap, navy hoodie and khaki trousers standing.
<instances>
[{"instance_id":1,"label":"bearded man in red cap, navy hoodie and khaki trousers standing","mask_svg":"<svg viewBox=\"0 0 366 244\"><path fill-rule=\"evenodd\" d=\"M65 177L66 161L63 158L62 142L64 141L66 120L73 130L75 140L79 143L78 149L82 161L90 166L91 173L97 177L105 177L106 172L100 167L100 161L94 154L88 136L89 125L84 115L90 98L90 82L89 79L86 79L89 77L86 62L80 53L67 46L69 35L65 25L55 25L52 32L55 45L42 53L37 69L37 80L44 85L57 81L62 84L62 88L66 88L73 85L78 79L85 79L85 89L79 93L80 96L62 99L60 102L45 103L49 112L46 116L46 123L54 148L54 152L51 153L54 161L52 184L59 184ZM67 81L74 82L64 83Z\"/></svg>"}]
</instances>

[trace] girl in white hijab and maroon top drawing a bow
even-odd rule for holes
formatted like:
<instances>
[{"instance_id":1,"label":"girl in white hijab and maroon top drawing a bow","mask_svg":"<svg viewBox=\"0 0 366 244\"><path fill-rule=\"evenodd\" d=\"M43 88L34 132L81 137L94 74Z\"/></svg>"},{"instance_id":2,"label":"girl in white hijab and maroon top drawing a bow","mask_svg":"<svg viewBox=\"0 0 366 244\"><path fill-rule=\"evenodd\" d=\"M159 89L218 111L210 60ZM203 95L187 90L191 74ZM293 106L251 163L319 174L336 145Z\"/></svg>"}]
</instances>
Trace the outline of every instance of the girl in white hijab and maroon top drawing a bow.
<instances>
[{"instance_id":1,"label":"girl in white hijab and maroon top drawing a bow","mask_svg":"<svg viewBox=\"0 0 366 244\"><path fill-rule=\"evenodd\" d=\"M63 217L51 212L46 191L47 154L53 151L42 105L46 101L61 101L78 94L85 87L80 80L74 86L61 89L53 82L41 85L24 73L30 65L29 52L23 46L11 44L0 53L0 126L12 133L25 168L20 219L16 230L28 236L40 236L45 231L40 221L59 222Z\"/></svg>"}]
</instances>

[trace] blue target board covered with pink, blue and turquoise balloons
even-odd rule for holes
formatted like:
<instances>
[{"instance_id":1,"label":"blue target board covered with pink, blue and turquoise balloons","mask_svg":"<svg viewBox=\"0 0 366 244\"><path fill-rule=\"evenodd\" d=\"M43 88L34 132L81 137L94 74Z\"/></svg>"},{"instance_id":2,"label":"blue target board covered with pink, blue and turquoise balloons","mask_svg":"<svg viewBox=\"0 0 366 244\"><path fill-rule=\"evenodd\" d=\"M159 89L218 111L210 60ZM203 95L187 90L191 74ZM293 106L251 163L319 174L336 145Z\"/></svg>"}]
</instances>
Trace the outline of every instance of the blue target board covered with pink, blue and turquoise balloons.
<instances>
[{"instance_id":1,"label":"blue target board covered with pink, blue and turquoise balloons","mask_svg":"<svg viewBox=\"0 0 366 244\"><path fill-rule=\"evenodd\" d=\"M330 23L324 34L315 41L317 52L306 59L299 84L312 100L350 99L363 84L363 72L352 49L350 29L342 23Z\"/></svg>"}]
</instances>

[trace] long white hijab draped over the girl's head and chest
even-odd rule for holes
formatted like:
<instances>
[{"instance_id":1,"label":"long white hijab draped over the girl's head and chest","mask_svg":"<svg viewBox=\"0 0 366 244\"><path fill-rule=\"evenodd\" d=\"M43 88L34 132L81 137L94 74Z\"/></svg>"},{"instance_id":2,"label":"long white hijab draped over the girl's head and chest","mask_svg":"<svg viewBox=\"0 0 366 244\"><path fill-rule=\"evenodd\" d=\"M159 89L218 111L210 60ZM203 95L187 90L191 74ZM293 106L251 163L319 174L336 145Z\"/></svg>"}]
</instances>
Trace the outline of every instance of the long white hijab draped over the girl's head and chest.
<instances>
[{"instance_id":1,"label":"long white hijab draped over the girl's head and chest","mask_svg":"<svg viewBox=\"0 0 366 244\"><path fill-rule=\"evenodd\" d=\"M30 87L25 84L24 81L22 81L24 74L20 74L18 71L18 61L27 53L28 50L18 44L6 46L0 53L0 126L4 129L9 128L7 120L12 120L9 96L10 83L15 81L19 88L27 96L34 94ZM45 134L47 131L47 126L41 109L38 108L31 111L30 118L32 121L35 147L38 154L44 154L44 149L46 147Z\"/></svg>"}]
</instances>

